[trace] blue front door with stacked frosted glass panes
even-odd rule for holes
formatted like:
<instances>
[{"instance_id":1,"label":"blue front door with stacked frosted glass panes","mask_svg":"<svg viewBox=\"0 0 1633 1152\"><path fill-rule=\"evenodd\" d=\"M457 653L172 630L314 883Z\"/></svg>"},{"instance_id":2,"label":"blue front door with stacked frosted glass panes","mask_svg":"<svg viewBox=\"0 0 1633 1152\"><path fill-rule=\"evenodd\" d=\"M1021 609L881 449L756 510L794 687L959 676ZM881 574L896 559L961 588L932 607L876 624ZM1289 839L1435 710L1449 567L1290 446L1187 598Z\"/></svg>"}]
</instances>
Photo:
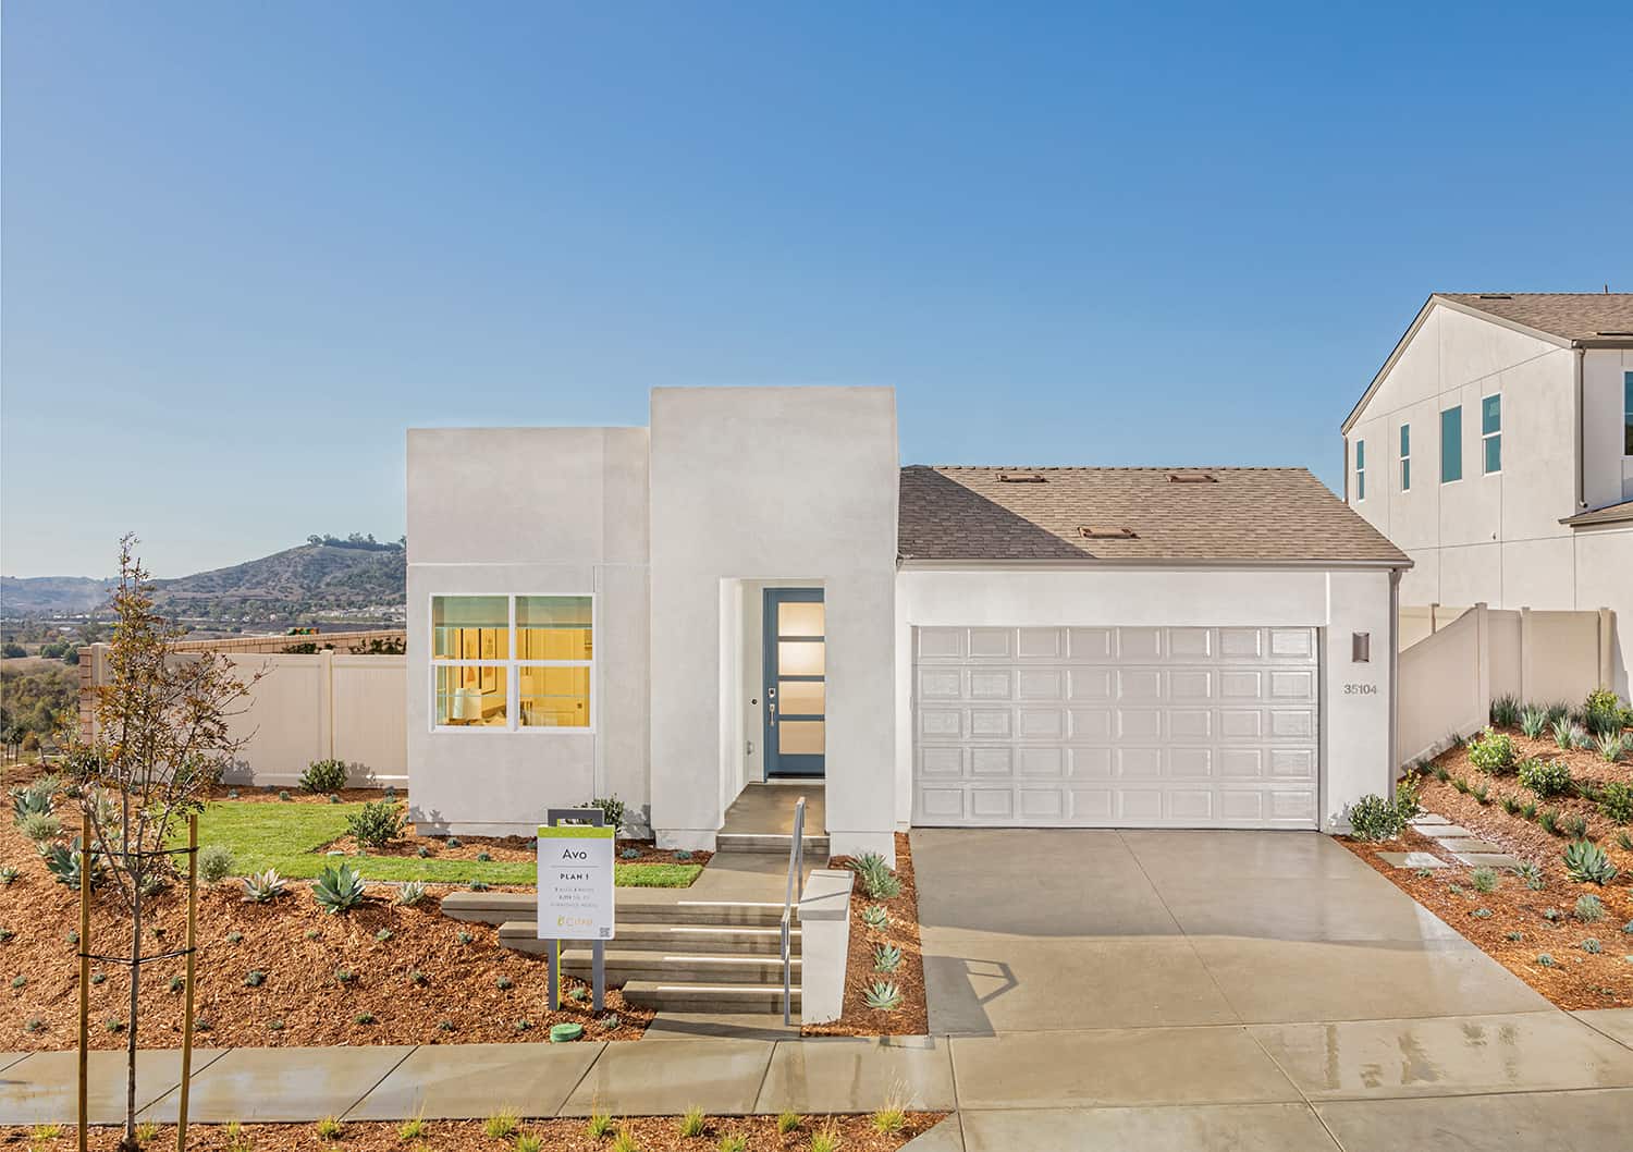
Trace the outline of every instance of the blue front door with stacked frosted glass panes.
<instances>
[{"instance_id":1,"label":"blue front door with stacked frosted glass panes","mask_svg":"<svg viewBox=\"0 0 1633 1152\"><path fill-rule=\"evenodd\" d=\"M766 588L766 776L821 776L828 644L821 588Z\"/></svg>"}]
</instances>

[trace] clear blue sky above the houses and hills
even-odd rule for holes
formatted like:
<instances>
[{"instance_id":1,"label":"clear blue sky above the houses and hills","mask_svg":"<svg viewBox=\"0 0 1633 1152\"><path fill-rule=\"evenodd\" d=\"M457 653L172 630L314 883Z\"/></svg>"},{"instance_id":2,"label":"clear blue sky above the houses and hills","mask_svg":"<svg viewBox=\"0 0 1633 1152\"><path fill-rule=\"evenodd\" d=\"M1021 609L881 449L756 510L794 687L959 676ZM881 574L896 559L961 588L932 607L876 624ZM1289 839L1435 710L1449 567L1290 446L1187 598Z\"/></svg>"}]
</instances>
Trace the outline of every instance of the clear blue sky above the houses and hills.
<instances>
[{"instance_id":1,"label":"clear blue sky above the houses and hills","mask_svg":"<svg viewBox=\"0 0 1633 1152\"><path fill-rule=\"evenodd\" d=\"M7 5L0 570L395 538L405 426L660 384L1336 484L1431 291L1633 288L1626 5L1125 8Z\"/></svg>"}]
</instances>

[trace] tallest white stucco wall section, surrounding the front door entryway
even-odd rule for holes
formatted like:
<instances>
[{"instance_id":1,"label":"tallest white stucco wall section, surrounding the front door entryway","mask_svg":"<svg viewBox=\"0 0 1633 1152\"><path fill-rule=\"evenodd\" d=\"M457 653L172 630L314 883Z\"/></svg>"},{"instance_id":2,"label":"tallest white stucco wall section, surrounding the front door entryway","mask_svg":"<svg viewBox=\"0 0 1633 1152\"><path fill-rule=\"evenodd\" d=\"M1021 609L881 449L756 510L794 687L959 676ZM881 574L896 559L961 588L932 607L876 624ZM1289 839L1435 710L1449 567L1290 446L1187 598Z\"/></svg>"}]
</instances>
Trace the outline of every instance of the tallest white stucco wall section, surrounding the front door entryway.
<instances>
[{"instance_id":1,"label":"tallest white stucco wall section, surrounding the front door entryway","mask_svg":"<svg viewBox=\"0 0 1633 1152\"><path fill-rule=\"evenodd\" d=\"M895 394L652 394L652 806L660 843L712 846L745 768L743 580L826 600L826 815L836 853L893 846ZM412 541L412 534L410 534ZM730 592L730 588L736 592Z\"/></svg>"}]
</instances>

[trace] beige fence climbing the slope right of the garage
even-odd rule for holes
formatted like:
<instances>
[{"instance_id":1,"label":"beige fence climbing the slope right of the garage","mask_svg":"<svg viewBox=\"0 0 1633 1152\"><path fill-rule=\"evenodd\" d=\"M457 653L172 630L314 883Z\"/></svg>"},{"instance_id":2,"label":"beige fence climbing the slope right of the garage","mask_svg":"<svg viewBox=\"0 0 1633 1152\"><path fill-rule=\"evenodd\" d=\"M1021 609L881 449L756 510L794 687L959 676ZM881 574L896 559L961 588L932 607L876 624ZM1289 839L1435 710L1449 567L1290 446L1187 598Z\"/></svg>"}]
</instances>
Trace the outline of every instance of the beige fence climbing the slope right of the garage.
<instances>
[{"instance_id":1,"label":"beige fence climbing the slope right of the garage","mask_svg":"<svg viewBox=\"0 0 1633 1152\"><path fill-rule=\"evenodd\" d=\"M1406 613L1431 609L1401 609ZM1615 613L1435 606L1435 631L1399 654L1401 763L1432 757L1452 735L1486 726L1491 701L1581 704L1612 683ZM1427 619L1427 618L1426 618ZM1447 623L1450 619L1450 623Z\"/></svg>"}]
</instances>

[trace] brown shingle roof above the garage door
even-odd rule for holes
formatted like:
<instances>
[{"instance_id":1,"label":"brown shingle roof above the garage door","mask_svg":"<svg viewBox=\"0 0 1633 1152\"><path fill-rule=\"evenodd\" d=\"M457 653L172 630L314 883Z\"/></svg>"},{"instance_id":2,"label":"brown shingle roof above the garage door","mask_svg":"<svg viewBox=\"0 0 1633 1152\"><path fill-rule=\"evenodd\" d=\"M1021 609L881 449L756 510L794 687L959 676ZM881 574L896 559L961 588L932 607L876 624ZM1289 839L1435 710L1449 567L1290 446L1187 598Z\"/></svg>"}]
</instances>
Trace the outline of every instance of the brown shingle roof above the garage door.
<instances>
[{"instance_id":1,"label":"brown shingle roof above the garage door","mask_svg":"<svg viewBox=\"0 0 1633 1152\"><path fill-rule=\"evenodd\" d=\"M908 560L1411 564L1302 467L911 466L897 539Z\"/></svg>"}]
</instances>

